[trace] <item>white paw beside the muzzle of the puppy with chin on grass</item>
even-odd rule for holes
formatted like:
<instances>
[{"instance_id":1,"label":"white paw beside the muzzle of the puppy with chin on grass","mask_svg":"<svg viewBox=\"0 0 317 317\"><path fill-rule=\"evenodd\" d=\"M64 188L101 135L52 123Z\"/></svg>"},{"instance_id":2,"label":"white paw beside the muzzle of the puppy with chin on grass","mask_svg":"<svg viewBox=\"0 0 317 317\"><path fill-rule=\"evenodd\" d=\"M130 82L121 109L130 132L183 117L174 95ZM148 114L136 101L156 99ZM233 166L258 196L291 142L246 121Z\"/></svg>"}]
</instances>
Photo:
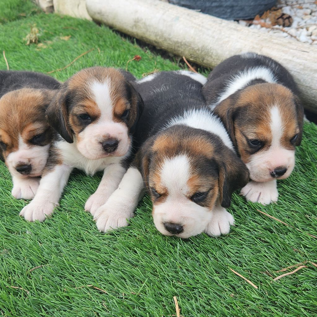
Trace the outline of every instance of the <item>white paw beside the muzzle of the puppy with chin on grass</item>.
<instances>
[{"instance_id":1,"label":"white paw beside the muzzle of the puppy with chin on grass","mask_svg":"<svg viewBox=\"0 0 317 317\"><path fill-rule=\"evenodd\" d=\"M229 233L230 226L234 224L234 217L222 207L213 210L213 212L214 214L204 232L208 236L220 236Z\"/></svg>"}]
</instances>

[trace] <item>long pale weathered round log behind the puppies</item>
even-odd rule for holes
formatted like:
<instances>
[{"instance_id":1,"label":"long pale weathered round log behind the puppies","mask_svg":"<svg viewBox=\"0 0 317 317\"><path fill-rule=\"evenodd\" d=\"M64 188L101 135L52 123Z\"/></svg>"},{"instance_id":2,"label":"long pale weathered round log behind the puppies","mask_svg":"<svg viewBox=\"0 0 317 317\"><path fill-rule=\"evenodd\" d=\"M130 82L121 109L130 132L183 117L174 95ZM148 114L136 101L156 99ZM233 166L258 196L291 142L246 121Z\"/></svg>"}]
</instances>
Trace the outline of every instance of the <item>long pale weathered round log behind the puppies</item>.
<instances>
[{"instance_id":1,"label":"long pale weathered round log behind the puppies","mask_svg":"<svg viewBox=\"0 0 317 317\"><path fill-rule=\"evenodd\" d=\"M317 48L157 0L87 0L93 20L206 67L243 52L267 55L294 76L317 113Z\"/></svg>"}]
</instances>

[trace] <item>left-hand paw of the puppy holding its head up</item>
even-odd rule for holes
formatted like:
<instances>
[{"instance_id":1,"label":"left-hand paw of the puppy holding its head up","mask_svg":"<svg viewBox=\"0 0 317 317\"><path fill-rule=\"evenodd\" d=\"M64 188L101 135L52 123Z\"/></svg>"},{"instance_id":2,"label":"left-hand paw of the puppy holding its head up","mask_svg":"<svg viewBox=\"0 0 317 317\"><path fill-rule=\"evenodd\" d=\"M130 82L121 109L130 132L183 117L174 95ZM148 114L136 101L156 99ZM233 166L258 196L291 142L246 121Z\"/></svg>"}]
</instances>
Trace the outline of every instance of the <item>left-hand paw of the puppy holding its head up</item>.
<instances>
[{"instance_id":1,"label":"left-hand paw of the puppy holding its head up","mask_svg":"<svg viewBox=\"0 0 317 317\"><path fill-rule=\"evenodd\" d=\"M46 217L53 213L55 205L43 200L32 200L30 204L26 205L20 212L25 220L40 222L44 221Z\"/></svg>"}]
</instances>

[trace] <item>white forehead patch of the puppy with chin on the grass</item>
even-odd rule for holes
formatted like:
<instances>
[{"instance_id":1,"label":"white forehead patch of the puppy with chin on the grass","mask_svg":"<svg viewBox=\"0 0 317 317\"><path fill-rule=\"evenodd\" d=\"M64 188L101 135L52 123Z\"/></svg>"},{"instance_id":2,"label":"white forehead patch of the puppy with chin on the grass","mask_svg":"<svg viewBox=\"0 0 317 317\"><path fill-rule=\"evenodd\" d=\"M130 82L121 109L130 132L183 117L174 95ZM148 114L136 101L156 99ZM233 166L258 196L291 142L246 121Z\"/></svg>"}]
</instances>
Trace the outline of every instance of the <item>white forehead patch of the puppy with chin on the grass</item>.
<instances>
[{"instance_id":1,"label":"white forehead patch of the puppy with chin on the grass","mask_svg":"<svg viewBox=\"0 0 317 317\"><path fill-rule=\"evenodd\" d=\"M168 189L169 194L188 191L188 178L190 177L190 164L186 155L177 155L166 159L161 168L161 184Z\"/></svg>"}]
</instances>

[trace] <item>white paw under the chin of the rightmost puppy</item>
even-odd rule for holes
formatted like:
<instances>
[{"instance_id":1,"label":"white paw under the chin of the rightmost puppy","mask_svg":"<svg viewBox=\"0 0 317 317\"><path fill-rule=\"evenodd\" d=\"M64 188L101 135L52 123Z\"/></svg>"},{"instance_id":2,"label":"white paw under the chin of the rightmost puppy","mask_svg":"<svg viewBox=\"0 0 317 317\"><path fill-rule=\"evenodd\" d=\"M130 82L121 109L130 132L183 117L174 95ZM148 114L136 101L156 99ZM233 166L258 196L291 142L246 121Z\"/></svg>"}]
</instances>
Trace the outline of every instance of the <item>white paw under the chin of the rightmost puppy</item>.
<instances>
[{"instance_id":1,"label":"white paw under the chin of the rightmost puppy","mask_svg":"<svg viewBox=\"0 0 317 317\"><path fill-rule=\"evenodd\" d=\"M241 194L247 201L268 205L272 201L277 201L279 193L276 188L276 181L254 182L250 181L241 189Z\"/></svg>"}]
</instances>

